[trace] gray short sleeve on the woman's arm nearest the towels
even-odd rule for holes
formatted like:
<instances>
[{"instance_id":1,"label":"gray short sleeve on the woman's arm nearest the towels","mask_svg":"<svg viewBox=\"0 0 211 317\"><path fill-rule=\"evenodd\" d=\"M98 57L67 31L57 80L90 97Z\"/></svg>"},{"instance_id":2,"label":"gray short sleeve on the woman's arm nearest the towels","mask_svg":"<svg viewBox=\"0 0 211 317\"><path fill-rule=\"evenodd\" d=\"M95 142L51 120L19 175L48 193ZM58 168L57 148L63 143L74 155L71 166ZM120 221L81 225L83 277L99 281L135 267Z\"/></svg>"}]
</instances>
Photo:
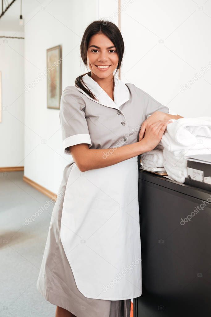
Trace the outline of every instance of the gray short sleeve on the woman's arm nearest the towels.
<instances>
[{"instance_id":1,"label":"gray short sleeve on the woman's arm nearest the towels","mask_svg":"<svg viewBox=\"0 0 211 317\"><path fill-rule=\"evenodd\" d=\"M147 94L145 91L142 89L136 87L138 90L138 93L141 94L141 100L144 102L144 115L145 115L145 120L147 119L147 116L149 114L154 113L155 111L161 111L165 113L169 113L169 108L167 106L162 105L160 102L155 100L152 96Z\"/></svg>"}]
</instances>

